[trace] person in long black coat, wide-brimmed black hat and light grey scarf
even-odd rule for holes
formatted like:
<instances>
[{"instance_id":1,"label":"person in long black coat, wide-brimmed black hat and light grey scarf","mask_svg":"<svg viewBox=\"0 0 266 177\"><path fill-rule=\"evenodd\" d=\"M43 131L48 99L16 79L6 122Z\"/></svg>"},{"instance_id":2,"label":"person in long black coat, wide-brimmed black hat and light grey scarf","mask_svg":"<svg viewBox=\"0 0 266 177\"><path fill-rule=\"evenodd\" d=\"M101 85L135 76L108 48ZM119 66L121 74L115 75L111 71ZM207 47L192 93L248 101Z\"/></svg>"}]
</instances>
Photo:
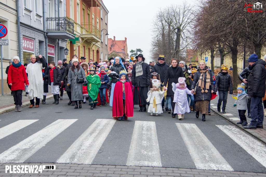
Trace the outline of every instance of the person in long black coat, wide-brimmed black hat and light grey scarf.
<instances>
[{"instance_id":1,"label":"person in long black coat, wide-brimmed black hat and light grey scarf","mask_svg":"<svg viewBox=\"0 0 266 177\"><path fill-rule=\"evenodd\" d=\"M151 80L149 65L144 63L142 54L136 56L137 64L132 68L131 82L134 85L133 103L139 105L139 112L146 111L146 99L148 98L148 86Z\"/></svg>"}]
</instances>

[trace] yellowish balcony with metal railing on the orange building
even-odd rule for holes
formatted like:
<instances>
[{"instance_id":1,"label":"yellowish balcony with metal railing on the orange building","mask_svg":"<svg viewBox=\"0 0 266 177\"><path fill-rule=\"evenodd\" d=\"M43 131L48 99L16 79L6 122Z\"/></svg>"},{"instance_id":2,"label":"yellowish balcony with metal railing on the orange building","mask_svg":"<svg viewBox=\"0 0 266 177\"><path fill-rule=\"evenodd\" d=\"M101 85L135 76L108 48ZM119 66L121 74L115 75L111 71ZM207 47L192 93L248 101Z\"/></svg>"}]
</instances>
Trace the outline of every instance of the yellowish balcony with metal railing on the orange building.
<instances>
[{"instance_id":1,"label":"yellowish balcony with metal railing on the orange building","mask_svg":"<svg viewBox=\"0 0 266 177\"><path fill-rule=\"evenodd\" d=\"M90 42L101 42L101 30L92 23L81 23L82 37Z\"/></svg>"}]
</instances>

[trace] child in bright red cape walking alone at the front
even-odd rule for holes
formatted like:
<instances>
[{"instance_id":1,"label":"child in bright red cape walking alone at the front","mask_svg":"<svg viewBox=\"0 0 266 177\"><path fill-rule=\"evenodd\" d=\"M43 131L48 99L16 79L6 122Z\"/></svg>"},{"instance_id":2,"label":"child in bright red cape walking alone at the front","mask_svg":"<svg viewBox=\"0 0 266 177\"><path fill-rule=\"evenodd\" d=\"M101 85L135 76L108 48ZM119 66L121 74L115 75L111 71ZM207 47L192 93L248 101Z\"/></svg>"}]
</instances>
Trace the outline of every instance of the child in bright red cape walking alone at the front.
<instances>
[{"instance_id":1,"label":"child in bright red cape walking alone at the front","mask_svg":"<svg viewBox=\"0 0 266 177\"><path fill-rule=\"evenodd\" d=\"M119 74L120 79L114 87L113 118L125 120L133 117L133 95L130 83L126 80L126 72L122 70Z\"/></svg>"}]
</instances>

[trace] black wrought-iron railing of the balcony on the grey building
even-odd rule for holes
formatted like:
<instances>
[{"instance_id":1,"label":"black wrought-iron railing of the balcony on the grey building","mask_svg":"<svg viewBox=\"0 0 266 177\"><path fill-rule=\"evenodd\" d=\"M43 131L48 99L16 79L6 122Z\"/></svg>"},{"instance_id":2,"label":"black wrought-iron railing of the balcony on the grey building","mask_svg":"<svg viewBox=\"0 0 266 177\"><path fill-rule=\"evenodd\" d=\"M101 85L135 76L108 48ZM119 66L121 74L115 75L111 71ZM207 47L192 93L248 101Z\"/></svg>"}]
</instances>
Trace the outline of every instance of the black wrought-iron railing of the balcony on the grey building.
<instances>
[{"instance_id":1,"label":"black wrought-iron railing of the balcony on the grey building","mask_svg":"<svg viewBox=\"0 0 266 177\"><path fill-rule=\"evenodd\" d=\"M47 31L65 31L74 34L74 23L66 17L46 18Z\"/></svg>"}]
</instances>

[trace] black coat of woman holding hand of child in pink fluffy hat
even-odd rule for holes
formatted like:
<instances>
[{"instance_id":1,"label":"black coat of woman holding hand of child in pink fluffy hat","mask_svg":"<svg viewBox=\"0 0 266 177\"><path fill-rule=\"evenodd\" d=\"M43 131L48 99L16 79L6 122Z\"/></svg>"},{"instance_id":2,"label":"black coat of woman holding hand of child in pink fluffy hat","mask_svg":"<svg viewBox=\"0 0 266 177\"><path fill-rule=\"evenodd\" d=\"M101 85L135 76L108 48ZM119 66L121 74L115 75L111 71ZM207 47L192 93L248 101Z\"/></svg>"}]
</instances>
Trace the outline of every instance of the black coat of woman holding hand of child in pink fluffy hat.
<instances>
[{"instance_id":1,"label":"black coat of woman holding hand of child in pink fluffy hat","mask_svg":"<svg viewBox=\"0 0 266 177\"><path fill-rule=\"evenodd\" d=\"M170 66L166 70L165 78L164 78L164 86L166 87L167 82L167 95L174 96L174 92L172 90L172 83L178 83L178 78L184 77L182 68L180 66L176 66L176 74L174 74L173 66Z\"/></svg>"}]
</instances>

